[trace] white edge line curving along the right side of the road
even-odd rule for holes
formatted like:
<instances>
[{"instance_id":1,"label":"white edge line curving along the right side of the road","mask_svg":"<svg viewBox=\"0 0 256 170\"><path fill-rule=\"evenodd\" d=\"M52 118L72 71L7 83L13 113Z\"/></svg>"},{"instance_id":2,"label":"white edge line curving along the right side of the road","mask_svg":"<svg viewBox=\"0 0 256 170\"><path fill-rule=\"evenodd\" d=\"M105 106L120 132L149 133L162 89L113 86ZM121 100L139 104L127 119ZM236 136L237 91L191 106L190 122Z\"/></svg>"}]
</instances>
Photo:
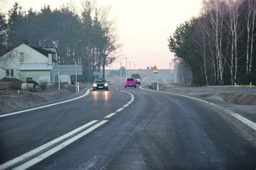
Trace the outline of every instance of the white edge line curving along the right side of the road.
<instances>
[{"instance_id":1,"label":"white edge line curving along the right side of the road","mask_svg":"<svg viewBox=\"0 0 256 170\"><path fill-rule=\"evenodd\" d=\"M200 101L200 102L204 102L204 103L211 104L211 102L207 102L207 101L201 100L201 99L199 99L199 98L194 98L194 97L191 97L191 96L186 96L186 95L180 95L180 94L175 94L175 93L169 93L169 92L165 92L165 91L156 91L156 90L150 90L150 89L144 89L144 88L142 88L142 87L146 86L147 84L149 84L149 83L146 83L146 84L144 84L143 86L140 86L139 88L142 89L142 90L153 91L153 92L155 92L155 93L164 93L164 94L172 94L172 95L176 95L176 96L183 96L183 97L191 98L191 99L193 99L193 100L197 100L197 101ZM218 105L217 105L217 108L219 108ZM252 121L250 121L250 120L246 119L245 117L242 117L242 116L240 116L240 115L238 115L238 114L230 114L230 115L232 115L232 116L235 117L235 118L239 117L239 118L237 118L237 119L238 119L239 121L241 121L241 122L244 121L243 123L245 123L246 125L248 125L247 122L250 122L251 125L248 125L248 126L250 126L251 128L253 127L252 129L256 130L256 124L255 124L254 122L252 122ZM234 115L235 115L235 116L234 116ZM246 121L246 120L247 120L247 121Z\"/></svg>"}]
</instances>

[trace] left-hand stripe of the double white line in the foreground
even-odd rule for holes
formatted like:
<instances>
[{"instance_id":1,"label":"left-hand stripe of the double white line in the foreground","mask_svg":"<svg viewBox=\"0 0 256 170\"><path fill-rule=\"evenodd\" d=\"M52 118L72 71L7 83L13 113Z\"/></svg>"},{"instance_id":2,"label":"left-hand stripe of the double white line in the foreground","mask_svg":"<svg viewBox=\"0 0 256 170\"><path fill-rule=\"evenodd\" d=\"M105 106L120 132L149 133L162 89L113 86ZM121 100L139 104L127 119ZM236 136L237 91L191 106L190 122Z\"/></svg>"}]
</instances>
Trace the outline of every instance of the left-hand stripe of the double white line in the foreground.
<instances>
[{"instance_id":1,"label":"left-hand stripe of the double white line in the foreground","mask_svg":"<svg viewBox=\"0 0 256 170\"><path fill-rule=\"evenodd\" d=\"M79 128L77 128L77 129L75 129L75 130L72 130L72 131L69 132L69 133L64 134L63 136L60 136L60 137L58 137L58 138L56 138L56 139L53 139L53 140L49 141L48 143L46 143L46 144L44 144L44 145L42 145L42 146L39 146L39 147L35 148L35 149L32 150L32 151L29 151L29 152L27 152L27 153L22 154L21 156L19 156L19 157L17 157L17 158L14 158L14 159L12 159L12 160L9 160L8 162L5 162L4 164L0 165L0 169L6 169L6 168L8 168L8 167L10 167L10 166L12 166L12 165L14 165L14 164L17 164L18 162L23 161L23 160L25 160L25 159L31 157L33 154L36 154L36 153L38 153L38 152L43 151L45 148L47 148L47 147L49 147L49 146L51 146L51 145L53 145L53 144L56 144L56 143L58 143L59 141L65 139L65 138L68 138L68 137L72 136L73 134L79 132L80 130L83 130L83 129L86 128L87 126L90 126L90 125L92 125L93 123L96 123L96 122L97 122L97 121L91 121L91 122L89 122L89 123L86 123L85 125L80 126Z\"/></svg>"}]
</instances>

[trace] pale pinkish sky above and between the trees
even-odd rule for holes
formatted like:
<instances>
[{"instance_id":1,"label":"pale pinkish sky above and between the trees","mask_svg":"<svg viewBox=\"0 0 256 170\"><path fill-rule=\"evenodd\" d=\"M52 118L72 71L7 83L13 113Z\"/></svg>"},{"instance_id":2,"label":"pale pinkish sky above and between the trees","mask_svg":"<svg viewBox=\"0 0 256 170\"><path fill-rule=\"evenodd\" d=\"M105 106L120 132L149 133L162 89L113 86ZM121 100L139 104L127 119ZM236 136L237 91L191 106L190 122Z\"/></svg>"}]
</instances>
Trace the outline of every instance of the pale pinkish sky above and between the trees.
<instances>
[{"instance_id":1,"label":"pale pinkish sky above and between the trees","mask_svg":"<svg viewBox=\"0 0 256 170\"><path fill-rule=\"evenodd\" d=\"M18 2L24 9L39 10L46 4L58 8L70 0L0 0L1 12L6 13ZM77 7L80 0L75 0ZM117 18L117 34L122 47L119 55L127 57L127 68L145 69L156 65L158 69L169 69L173 54L169 51L167 39L176 26L200 12L201 0L98 0L98 5L111 6L110 18ZM119 58L109 68L125 66L125 59Z\"/></svg>"}]
</instances>

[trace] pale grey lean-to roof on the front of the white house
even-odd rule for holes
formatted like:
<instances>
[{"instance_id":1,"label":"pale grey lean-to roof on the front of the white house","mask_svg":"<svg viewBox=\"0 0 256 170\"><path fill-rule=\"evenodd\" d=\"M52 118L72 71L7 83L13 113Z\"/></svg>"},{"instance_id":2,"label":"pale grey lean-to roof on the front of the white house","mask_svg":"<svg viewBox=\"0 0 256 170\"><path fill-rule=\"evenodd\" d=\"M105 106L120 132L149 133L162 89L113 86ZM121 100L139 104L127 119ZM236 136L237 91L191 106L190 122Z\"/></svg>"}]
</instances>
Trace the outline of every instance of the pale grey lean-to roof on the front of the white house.
<instances>
[{"instance_id":1,"label":"pale grey lean-to roof on the front of the white house","mask_svg":"<svg viewBox=\"0 0 256 170\"><path fill-rule=\"evenodd\" d=\"M21 63L18 70L52 70L52 65L48 65L48 63Z\"/></svg>"}]
</instances>

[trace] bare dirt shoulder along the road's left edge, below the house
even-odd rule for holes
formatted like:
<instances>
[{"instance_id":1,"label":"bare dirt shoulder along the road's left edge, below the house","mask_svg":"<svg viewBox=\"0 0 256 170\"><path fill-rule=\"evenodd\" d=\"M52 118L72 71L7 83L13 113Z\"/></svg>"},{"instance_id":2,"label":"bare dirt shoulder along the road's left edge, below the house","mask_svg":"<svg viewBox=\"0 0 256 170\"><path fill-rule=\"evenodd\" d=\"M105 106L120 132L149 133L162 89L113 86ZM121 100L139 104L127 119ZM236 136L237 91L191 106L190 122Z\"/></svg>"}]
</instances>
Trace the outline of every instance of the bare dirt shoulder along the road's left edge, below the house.
<instances>
[{"instance_id":1,"label":"bare dirt shoulder along the road's left edge, below the house","mask_svg":"<svg viewBox=\"0 0 256 170\"><path fill-rule=\"evenodd\" d=\"M62 87L58 91L58 87L56 86L49 86L45 91L38 89L36 92L23 91L19 94L16 90L0 91L0 114L57 101L75 93L75 87Z\"/></svg>"}]
</instances>

